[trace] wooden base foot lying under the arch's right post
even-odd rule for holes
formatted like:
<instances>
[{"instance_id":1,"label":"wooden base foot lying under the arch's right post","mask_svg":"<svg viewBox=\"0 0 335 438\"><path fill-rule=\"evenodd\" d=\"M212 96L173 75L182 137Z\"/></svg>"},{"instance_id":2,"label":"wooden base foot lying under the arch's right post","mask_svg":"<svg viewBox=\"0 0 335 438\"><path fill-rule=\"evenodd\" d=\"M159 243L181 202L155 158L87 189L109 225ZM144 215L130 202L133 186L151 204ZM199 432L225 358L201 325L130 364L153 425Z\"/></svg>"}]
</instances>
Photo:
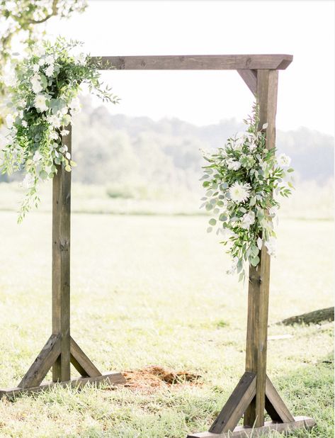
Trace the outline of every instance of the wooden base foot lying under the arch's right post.
<instances>
[{"instance_id":1,"label":"wooden base foot lying under the arch's right post","mask_svg":"<svg viewBox=\"0 0 335 438\"><path fill-rule=\"evenodd\" d=\"M312 429L316 425L313 418L310 417L294 417L293 422L282 423L268 421L263 427L245 427L237 426L233 432L224 432L222 434L214 434L212 432L200 432L188 435L187 438L246 438L246 437L263 437L264 435L276 430L277 432L289 432L294 429Z\"/></svg>"}]
</instances>

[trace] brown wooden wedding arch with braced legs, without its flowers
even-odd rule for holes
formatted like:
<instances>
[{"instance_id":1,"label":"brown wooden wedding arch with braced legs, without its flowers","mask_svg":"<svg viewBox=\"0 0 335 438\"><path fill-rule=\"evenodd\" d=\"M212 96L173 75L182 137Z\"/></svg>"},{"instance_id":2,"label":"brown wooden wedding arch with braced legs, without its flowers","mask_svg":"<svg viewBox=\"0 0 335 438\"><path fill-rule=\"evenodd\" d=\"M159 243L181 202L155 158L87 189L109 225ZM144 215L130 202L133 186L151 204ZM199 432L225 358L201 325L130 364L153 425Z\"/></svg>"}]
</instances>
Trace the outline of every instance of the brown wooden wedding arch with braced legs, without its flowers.
<instances>
[{"instance_id":1,"label":"brown wooden wedding arch with braced legs, without its flowers","mask_svg":"<svg viewBox=\"0 0 335 438\"><path fill-rule=\"evenodd\" d=\"M260 107L260 125L266 128L267 147L275 146L278 70L292 62L292 55L186 55L102 57L101 69L126 70L237 70ZM113 67L110 67L113 66ZM63 138L71 152L72 128ZM124 383L120 373L101 374L70 335L70 217L71 172L59 167L52 189L52 335L16 388L0 389L0 395L36 392L55 384L74 387L86 383ZM310 428L310 417L293 417L266 374L270 256L261 249L261 262L249 270L245 373L222 408L209 432L188 438L259 436ZM73 364L80 378L70 378ZM41 384L52 368L52 383ZM264 423L265 410L272 421ZM244 426L237 427L244 416Z\"/></svg>"}]
</instances>

